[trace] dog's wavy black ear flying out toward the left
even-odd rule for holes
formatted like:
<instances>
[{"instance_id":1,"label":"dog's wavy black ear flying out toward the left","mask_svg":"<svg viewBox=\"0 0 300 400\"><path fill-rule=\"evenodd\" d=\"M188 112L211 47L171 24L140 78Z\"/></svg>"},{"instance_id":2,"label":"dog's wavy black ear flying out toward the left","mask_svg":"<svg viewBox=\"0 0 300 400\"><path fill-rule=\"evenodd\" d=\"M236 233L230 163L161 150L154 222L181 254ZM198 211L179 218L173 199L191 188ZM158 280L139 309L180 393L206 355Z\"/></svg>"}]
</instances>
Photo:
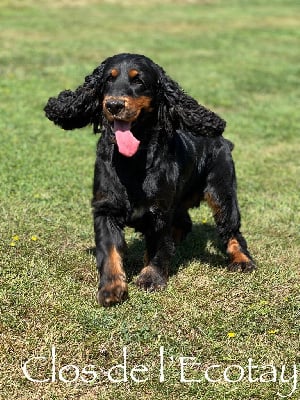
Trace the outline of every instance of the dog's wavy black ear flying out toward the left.
<instances>
[{"instance_id":1,"label":"dog's wavy black ear flying out toward the left","mask_svg":"<svg viewBox=\"0 0 300 400\"><path fill-rule=\"evenodd\" d=\"M97 132L102 118L102 77L106 62L88 75L75 91L64 90L57 98L51 97L44 108L46 117L66 130L93 124Z\"/></svg>"}]
</instances>

